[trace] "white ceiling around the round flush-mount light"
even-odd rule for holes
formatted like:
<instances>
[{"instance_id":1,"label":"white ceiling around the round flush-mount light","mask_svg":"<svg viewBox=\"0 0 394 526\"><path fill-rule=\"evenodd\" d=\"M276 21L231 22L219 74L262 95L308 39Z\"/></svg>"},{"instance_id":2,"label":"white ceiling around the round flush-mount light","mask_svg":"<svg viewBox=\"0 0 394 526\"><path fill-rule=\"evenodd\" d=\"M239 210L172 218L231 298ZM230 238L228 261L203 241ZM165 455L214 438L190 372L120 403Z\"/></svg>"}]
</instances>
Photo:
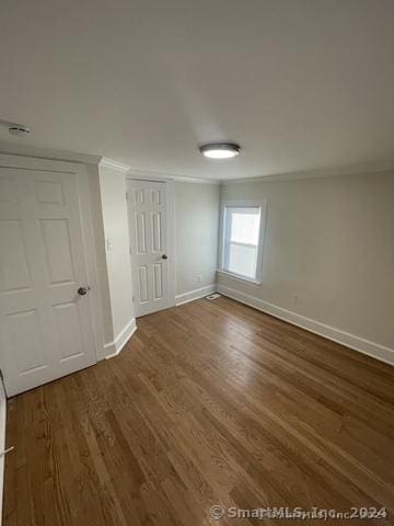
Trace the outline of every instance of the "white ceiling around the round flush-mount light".
<instances>
[{"instance_id":1,"label":"white ceiling around the round flush-mount light","mask_svg":"<svg viewBox=\"0 0 394 526\"><path fill-rule=\"evenodd\" d=\"M210 179L394 159L394 0L2 0L0 68L18 145Z\"/></svg>"}]
</instances>

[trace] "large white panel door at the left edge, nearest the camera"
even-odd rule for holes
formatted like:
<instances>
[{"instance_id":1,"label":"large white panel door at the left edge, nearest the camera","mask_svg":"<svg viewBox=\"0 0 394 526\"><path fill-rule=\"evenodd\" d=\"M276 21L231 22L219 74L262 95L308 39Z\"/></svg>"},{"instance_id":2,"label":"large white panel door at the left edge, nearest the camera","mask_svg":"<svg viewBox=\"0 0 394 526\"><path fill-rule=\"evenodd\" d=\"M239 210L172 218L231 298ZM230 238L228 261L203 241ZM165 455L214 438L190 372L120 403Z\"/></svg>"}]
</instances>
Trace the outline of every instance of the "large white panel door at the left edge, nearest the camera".
<instances>
[{"instance_id":1,"label":"large white panel door at the left edge, nearest the camera","mask_svg":"<svg viewBox=\"0 0 394 526\"><path fill-rule=\"evenodd\" d=\"M8 396L94 364L91 316L77 174L0 168L0 367Z\"/></svg>"}]
</instances>

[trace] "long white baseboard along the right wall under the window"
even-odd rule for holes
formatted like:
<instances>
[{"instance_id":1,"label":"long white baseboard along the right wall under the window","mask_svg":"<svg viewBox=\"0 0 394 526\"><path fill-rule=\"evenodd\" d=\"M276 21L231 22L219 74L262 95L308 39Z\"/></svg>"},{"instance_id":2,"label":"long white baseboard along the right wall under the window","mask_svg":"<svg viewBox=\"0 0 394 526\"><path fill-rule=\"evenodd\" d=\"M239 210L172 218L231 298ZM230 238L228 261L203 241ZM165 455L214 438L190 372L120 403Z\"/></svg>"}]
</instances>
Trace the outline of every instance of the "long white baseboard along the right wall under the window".
<instances>
[{"instance_id":1,"label":"long white baseboard along the right wall under the window","mask_svg":"<svg viewBox=\"0 0 394 526\"><path fill-rule=\"evenodd\" d=\"M302 329L306 329L308 331L320 334L328 340L341 343L343 345L354 348L355 351L368 354L369 356L380 359L381 362L394 365L394 348L385 347L379 343L374 343L370 340L366 340L363 338L356 336L355 334L350 334L349 332L341 331L340 329L336 329L335 327L326 325L320 321L312 320L311 318L298 315L291 310L287 310L282 307L269 304L268 301L255 298L254 296L240 293L239 290L225 287L224 285L218 285L217 290L223 296L229 296L229 298L236 299L242 304L248 305L250 307L254 307L263 312L288 321L293 325L301 327Z\"/></svg>"}]
</instances>

